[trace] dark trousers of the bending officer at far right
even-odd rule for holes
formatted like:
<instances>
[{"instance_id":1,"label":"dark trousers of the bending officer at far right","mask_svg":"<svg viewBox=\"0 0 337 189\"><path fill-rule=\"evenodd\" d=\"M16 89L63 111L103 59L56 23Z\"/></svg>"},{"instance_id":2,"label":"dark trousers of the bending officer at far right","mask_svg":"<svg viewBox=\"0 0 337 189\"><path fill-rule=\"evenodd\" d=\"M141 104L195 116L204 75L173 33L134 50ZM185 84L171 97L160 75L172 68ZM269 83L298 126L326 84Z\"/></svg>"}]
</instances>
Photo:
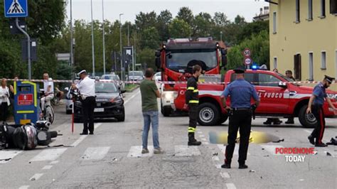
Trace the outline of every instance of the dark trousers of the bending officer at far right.
<instances>
[{"instance_id":1,"label":"dark trousers of the bending officer at far right","mask_svg":"<svg viewBox=\"0 0 337 189\"><path fill-rule=\"evenodd\" d=\"M312 114L314 114L317 120L316 127L314 131L312 131L311 136L316 138L316 144L322 144L324 129L326 128L326 121L324 117L323 108L321 105L314 104L311 106L311 112Z\"/></svg>"}]
</instances>

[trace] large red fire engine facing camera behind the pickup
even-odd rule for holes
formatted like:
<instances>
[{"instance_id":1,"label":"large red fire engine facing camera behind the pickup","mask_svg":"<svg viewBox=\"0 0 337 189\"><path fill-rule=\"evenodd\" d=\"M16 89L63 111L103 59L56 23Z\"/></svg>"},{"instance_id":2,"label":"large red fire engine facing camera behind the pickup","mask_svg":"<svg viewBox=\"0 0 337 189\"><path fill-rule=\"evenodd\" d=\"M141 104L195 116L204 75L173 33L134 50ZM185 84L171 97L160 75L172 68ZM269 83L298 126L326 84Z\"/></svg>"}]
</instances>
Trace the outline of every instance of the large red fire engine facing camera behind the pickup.
<instances>
[{"instance_id":1,"label":"large red fire engine facing camera behind the pickup","mask_svg":"<svg viewBox=\"0 0 337 189\"><path fill-rule=\"evenodd\" d=\"M156 67L161 70L161 81L186 81L186 68L191 60L200 60L205 63L206 74L220 74L226 64L227 50L222 41L213 41L213 38L169 39L156 51ZM169 116L172 112L174 84L161 85L161 113Z\"/></svg>"}]
</instances>

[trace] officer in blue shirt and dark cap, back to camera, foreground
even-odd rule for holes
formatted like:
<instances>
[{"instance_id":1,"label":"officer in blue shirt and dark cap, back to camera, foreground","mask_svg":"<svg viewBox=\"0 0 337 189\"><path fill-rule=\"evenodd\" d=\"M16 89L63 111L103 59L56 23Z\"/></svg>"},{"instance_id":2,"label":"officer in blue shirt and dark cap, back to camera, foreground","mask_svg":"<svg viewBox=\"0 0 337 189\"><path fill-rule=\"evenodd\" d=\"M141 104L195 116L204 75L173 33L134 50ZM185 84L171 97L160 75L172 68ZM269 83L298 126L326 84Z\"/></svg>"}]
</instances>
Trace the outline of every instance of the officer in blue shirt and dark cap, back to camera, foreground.
<instances>
[{"instance_id":1,"label":"officer in blue shirt and dark cap, back to camera, foreground","mask_svg":"<svg viewBox=\"0 0 337 189\"><path fill-rule=\"evenodd\" d=\"M245 70L237 68L234 70L236 80L230 83L224 90L221 99L223 106L230 112L228 126L228 145L225 151L225 164L221 168L230 168L232 155L237 139L237 131L240 129L239 168L248 168L247 159L248 144L250 139L250 127L252 126L252 105L250 100L255 100L255 105L260 104L255 87L244 79ZM230 107L226 99L230 97Z\"/></svg>"}]
</instances>

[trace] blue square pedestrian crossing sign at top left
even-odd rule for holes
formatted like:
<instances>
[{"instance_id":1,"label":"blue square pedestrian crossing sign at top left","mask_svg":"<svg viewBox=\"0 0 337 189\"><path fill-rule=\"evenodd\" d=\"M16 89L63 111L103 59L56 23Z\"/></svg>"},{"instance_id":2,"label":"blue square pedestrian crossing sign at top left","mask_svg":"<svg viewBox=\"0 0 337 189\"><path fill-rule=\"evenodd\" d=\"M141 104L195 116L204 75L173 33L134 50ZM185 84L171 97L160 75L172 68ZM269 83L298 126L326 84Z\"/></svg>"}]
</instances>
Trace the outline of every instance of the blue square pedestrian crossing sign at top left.
<instances>
[{"instance_id":1,"label":"blue square pedestrian crossing sign at top left","mask_svg":"<svg viewBox=\"0 0 337 189\"><path fill-rule=\"evenodd\" d=\"M5 17L27 17L27 0L4 0Z\"/></svg>"}]
</instances>

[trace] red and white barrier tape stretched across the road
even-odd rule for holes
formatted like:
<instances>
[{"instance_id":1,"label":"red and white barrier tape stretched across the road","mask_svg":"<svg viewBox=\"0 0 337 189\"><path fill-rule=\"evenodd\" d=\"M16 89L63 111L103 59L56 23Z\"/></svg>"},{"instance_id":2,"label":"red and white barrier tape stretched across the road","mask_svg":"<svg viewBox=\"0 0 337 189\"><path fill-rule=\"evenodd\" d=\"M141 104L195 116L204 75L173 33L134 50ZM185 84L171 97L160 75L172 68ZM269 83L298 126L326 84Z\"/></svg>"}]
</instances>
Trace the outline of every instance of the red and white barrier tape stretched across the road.
<instances>
[{"instance_id":1,"label":"red and white barrier tape stretched across the road","mask_svg":"<svg viewBox=\"0 0 337 189\"><path fill-rule=\"evenodd\" d=\"M9 81L28 81L28 80L14 80L14 79L8 79ZM30 80L31 82L44 82L45 80ZM97 82L115 82L115 83L125 83L125 84L140 84L141 81L113 81L113 80L97 80ZM48 82L60 82L60 83L77 83L78 80L48 80ZM293 83L293 84L318 84L321 81L296 81L296 82L281 82L281 83ZM186 84L187 81L158 81L159 84ZM198 84L229 84L230 82L198 82ZM252 84L272 84L272 83L280 83L280 82L251 82ZM333 81L331 84L336 84L336 81Z\"/></svg>"}]
</instances>

